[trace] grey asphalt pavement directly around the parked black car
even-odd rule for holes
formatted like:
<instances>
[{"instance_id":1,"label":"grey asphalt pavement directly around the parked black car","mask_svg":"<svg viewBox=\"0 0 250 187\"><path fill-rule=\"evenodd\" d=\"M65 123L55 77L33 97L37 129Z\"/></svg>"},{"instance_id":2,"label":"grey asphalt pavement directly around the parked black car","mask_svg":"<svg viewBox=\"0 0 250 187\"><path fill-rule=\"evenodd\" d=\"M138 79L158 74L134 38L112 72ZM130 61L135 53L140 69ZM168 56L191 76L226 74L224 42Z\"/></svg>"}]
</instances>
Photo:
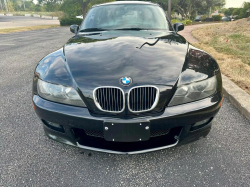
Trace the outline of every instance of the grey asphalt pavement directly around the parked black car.
<instances>
[{"instance_id":1,"label":"grey asphalt pavement directly around the parked black car","mask_svg":"<svg viewBox=\"0 0 250 187\"><path fill-rule=\"evenodd\" d=\"M72 36L68 27L0 35L0 186L249 186L250 122L227 99L207 138L162 151L113 155L47 138L33 71Z\"/></svg>"}]
</instances>

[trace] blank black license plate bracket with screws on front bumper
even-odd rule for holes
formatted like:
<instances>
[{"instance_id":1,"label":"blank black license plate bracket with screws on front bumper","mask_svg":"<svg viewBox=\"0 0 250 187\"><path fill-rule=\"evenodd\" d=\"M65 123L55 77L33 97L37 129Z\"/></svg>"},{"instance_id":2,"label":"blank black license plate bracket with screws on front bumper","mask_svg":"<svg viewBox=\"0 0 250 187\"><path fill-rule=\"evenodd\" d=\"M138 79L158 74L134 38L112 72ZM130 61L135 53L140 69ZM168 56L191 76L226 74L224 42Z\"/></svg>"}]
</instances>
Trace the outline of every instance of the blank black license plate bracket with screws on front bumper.
<instances>
[{"instance_id":1,"label":"blank black license plate bracket with screws on front bumper","mask_svg":"<svg viewBox=\"0 0 250 187\"><path fill-rule=\"evenodd\" d=\"M103 124L104 139L113 142L139 142L150 139L150 122Z\"/></svg>"}]
</instances>

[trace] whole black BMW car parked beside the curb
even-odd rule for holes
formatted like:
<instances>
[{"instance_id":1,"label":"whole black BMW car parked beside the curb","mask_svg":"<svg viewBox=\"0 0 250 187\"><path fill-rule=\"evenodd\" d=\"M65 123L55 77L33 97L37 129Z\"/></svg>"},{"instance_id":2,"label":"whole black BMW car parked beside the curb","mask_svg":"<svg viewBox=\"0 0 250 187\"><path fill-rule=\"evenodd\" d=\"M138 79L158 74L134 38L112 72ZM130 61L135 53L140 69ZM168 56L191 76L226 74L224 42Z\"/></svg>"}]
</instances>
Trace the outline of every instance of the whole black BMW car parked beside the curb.
<instances>
[{"instance_id":1,"label":"whole black BMW car parked beside the curb","mask_svg":"<svg viewBox=\"0 0 250 187\"><path fill-rule=\"evenodd\" d=\"M158 4L93 6L35 69L33 107L48 137L116 154L206 137L223 101L221 73L183 29Z\"/></svg>"}]
</instances>

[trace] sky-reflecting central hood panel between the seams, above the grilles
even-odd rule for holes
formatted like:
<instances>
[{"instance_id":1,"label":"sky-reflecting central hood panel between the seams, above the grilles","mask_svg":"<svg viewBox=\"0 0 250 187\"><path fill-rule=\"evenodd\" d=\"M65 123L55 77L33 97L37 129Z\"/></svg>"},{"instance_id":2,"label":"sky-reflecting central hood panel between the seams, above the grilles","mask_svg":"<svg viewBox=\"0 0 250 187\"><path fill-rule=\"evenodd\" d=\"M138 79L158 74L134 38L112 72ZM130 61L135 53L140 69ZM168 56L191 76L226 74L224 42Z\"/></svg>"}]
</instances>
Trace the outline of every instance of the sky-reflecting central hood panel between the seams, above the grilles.
<instances>
[{"instance_id":1,"label":"sky-reflecting central hood panel between the seams, above the grilles","mask_svg":"<svg viewBox=\"0 0 250 187\"><path fill-rule=\"evenodd\" d=\"M79 34L64 46L69 70L80 89L133 85L175 85L188 49L173 32L108 31Z\"/></svg>"}]
</instances>

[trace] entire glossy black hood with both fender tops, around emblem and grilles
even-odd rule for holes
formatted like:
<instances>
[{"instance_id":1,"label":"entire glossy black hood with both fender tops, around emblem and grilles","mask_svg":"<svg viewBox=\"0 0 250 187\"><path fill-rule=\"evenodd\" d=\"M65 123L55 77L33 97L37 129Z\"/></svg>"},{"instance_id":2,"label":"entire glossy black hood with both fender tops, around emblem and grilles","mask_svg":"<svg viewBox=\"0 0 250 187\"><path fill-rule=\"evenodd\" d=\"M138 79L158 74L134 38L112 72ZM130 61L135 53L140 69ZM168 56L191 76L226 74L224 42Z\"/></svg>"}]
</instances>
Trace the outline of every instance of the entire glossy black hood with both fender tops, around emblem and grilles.
<instances>
[{"instance_id":1,"label":"entire glossy black hood with both fender tops, around emblem and grilles","mask_svg":"<svg viewBox=\"0 0 250 187\"><path fill-rule=\"evenodd\" d=\"M99 86L120 87L127 95L135 86L155 85L160 97L150 115L158 115L172 98L178 84L189 84L219 72L207 53L175 33L157 31L108 31L78 34L44 57L35 70L37 79L76 89L93 115L106 115L95 105L93 91ZM121 77L131 77L123 86ZM127 97L126 97L127 98ZM116 114L114 114L116 115ZM138 117L125 109L119 117ZM144 114L140 114L143 116Z\"/></svg>"}]
</instances>

